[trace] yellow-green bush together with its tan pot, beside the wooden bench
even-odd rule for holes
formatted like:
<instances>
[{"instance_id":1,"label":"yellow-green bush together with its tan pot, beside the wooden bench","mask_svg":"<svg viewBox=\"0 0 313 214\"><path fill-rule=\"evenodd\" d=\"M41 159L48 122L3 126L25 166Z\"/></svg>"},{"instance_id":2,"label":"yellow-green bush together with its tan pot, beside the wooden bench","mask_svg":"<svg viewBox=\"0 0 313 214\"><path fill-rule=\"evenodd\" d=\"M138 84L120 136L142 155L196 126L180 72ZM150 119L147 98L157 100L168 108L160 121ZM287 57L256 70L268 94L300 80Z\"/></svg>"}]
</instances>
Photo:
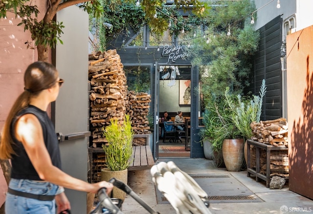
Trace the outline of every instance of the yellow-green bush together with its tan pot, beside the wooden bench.
<instances>
[{"instance_id":1,"label":"yellow-green bush together with its tan pot, beside the wooden bench","mask_svg":"<svg viewBox=\"0 0 313 214\"><path fill-rule=\"evenodd\" d=\"M127 168L130 165L133 153L134 130L131 126L130 116L127 114L124 120L111 119L110 125L103 130L108 144L103 145L105 151L105 165L101 169L101 180L109 181L112 177L127 183ZM114 198L125 199L126 193L113 188Z\"/></svg>"}]
</instances>

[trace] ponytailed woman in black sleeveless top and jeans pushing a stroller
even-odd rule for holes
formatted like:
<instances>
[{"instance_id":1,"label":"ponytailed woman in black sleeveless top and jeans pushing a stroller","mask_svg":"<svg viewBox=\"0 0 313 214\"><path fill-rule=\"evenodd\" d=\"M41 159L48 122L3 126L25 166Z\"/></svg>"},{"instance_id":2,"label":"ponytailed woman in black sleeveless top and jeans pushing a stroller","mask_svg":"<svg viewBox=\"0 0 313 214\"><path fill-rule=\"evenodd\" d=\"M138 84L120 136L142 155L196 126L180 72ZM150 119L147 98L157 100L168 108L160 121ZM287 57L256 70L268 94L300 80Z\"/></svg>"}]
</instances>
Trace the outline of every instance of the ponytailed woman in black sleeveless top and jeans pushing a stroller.
<instances>
[{"instance_id":1,"label":"ponytailed woman in black sleeveless top and jeans pushing a stroller","mask_svg":"<svg viewBox=\"0 0 313 214\"><path fill-rule=\"evenodd\" d=\"M91 193L103 187L112 191L111 183L89 184L61 171L59 143L46 109L63 83L52 64L35 62L25 71L24 92L11 108L1 134L0 159L12 163L7 214L55 214L55 204L58 213L70 210L63 187Z\"/></svg>"}]
</instances>

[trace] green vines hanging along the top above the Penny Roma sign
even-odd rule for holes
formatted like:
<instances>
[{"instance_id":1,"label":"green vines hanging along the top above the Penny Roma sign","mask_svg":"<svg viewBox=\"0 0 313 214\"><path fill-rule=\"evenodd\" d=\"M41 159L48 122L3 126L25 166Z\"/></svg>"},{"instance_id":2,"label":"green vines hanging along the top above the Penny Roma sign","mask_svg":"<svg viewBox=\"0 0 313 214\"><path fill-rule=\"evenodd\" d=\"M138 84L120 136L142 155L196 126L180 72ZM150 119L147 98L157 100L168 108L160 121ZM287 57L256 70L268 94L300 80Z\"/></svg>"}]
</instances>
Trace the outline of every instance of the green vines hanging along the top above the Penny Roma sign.
<instances>
[{"instance_id":1,"label":"green vines hanging along the top above the Penny Roma sign","mask_svg":"<svg viewBox=\"0 0 313 214\"><path fill-rule=\"evenodd\" d=\"M121 1L118 3L112 2L108 4L106 0L98 0L103 5L104 12L99 19L94 16L89 17L89 30L96 37L98 46L96 50L104 51L112 40L116 39L119 35L123 35L126 39L130 34L130 30L136 33L139 32L145 24L149 26L150 33L160 41L161 36L168 29L171 35L176 37L181 32L182 28L185 31L192 29L195 22L199 22L201 17L205 14L207 6L205 3L199 3L198 0L184 1L181 3L177 0L174 1L176 6L169 6L164 1L140 1L140 6L136 6L134 0ZM189 5L195 5L189 8ZM178 9L182 4L182 9ZM183 17L183 11L193 11L192 16ZM169 23L172 23L169 26ZM105 23L112 24L109 28ZM135 44L142 45L143 42L137 41ZM171 41L167 41L171 42Z\"/></svg>"}]
</instances>

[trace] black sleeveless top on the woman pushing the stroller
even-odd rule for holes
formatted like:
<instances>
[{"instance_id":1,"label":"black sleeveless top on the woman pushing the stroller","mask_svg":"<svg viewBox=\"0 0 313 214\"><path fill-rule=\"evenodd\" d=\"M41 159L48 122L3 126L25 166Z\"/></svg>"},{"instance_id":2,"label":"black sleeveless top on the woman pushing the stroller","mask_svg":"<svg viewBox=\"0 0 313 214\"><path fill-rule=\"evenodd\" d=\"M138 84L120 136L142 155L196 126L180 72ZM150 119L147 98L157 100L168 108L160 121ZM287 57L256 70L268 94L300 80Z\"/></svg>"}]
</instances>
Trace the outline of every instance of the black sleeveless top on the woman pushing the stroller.
<instances>
[{"instance_id":1,"label":"black sleeveless top on the woman pushing the stroller","mask_svg":"<svg viewBox=\"0 0 313 214\"><path fill-rule=\"evenodd\" d=\"M34 114L38 118L43 128L45 147L49 152L52 164L53 166L61 169L59 142L57 135L54 131L53 124L45 111L39 109L38 107L30 105L22 109L11 123L11 135L14 141L13 150L16 153L15 155L12 155L11 159L12 163L11 178L42 180L40 179L32 163L30 162L28 155L22 145L22 142L18 141L15 138L14 125L16 121L24 114Z\"/></svg>"}]
</instances>

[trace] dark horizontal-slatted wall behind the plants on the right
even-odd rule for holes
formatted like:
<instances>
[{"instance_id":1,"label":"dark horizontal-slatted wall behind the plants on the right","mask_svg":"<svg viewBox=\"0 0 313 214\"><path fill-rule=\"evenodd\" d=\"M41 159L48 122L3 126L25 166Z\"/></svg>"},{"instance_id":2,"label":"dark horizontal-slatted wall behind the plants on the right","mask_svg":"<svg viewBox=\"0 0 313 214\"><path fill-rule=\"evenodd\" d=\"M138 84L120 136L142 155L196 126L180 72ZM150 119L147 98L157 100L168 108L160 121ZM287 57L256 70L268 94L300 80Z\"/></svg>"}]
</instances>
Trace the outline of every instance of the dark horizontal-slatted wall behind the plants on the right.
<instances>
[{"instance_id":1,"label":"dark horizontal-slatted wall behind the plants on the right","mask_svg":"<svg viewBox=\"0 0 313 214\"><path fill-rule=\"evenodd\" d=\"M259 29L261 34L259 50L252 62L251 85L246 87L246 92L251 91L259 95L262 80L266 81L267 92L263 100L262 121L282 117L281 26L282 19L277 16Z\"/></svg>"}]
</instances>

